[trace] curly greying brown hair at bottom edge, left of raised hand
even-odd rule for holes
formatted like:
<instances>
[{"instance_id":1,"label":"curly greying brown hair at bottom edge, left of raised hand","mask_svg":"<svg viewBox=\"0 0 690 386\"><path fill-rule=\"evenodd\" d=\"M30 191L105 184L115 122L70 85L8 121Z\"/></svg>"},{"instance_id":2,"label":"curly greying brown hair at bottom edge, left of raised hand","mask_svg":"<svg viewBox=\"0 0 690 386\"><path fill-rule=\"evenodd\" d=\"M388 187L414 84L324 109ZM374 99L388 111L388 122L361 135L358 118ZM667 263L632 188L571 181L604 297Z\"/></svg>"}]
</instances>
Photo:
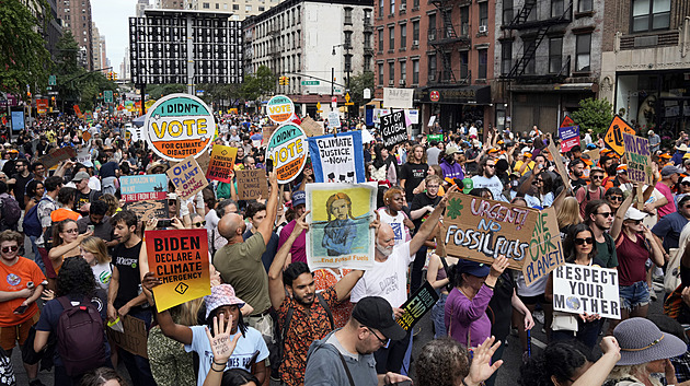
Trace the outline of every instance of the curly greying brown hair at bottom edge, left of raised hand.
<instances>
[{"instance_id":1,"label":"curly greying brown hair at bottom edge, left of raised hand","mask_svg":"<svg viewBox=\"0 0 690 386\"><path fill-rule=\"evenodd\" d=\"M453 386L470 373L468 350L452 338L424 344L415 361L418 386Z\"/></svg>"}]
</instances>

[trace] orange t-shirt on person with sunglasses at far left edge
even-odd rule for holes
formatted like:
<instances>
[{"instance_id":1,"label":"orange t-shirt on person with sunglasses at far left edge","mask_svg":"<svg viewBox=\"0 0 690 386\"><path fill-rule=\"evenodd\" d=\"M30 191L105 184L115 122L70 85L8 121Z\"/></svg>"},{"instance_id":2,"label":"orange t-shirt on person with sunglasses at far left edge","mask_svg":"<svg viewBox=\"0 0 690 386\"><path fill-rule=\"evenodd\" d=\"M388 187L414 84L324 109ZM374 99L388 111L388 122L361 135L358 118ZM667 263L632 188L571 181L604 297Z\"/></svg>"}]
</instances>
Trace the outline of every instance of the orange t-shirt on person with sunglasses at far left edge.
<instances>
[{"instance_id":1,"label":"orange t-shirt on person with sunglasses at far left edge","mask_svg":"<svg viewBox=\"0 0 690 386\"><path fill-rule=\"evenodd\" d=\"M2 259L0 257L0 259ZM13 266L8 266L4 260L0 262L0 291L16 292L26 288L26 283L34 282L37 288L44 280L45 276L38 266L24 257L19 257ZM31 319L37 312L38 306L33 302L23 314L14 314L14 309L22 305L25 297L18 297L11 301L0 303L0 327L11 327L20 325Z\"/></svg>"}]
</instances>

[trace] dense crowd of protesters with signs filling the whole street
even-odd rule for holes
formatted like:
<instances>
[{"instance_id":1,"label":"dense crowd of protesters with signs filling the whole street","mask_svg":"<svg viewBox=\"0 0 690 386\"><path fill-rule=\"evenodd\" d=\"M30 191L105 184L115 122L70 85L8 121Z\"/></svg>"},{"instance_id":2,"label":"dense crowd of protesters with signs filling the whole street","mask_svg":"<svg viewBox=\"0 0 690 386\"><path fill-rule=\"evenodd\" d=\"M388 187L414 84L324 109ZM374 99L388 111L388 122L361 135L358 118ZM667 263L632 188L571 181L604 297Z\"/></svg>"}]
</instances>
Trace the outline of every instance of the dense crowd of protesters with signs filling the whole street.
<instances>
[{"instance_id":1,"label":"dense crowd of protesters with signs filling the whole street","mask_svg":"<svg viewBox=\"0 0 690 386\"><path fill-rule=\"evenodd\" d=\"M524 386L690 384L687 133L631 128L646 139L635 152L480 121L387 143L358 120L304 119L324 131L280 183L268 117L216 120L189 163L124 118L1 132L0 385L23 366L32 386L39 373L59 386L491 386L508 361ZM327 153L333 138L356 154ZM354 161L329 175L326 154ZM370 206L343 182L367 186ZM541 219L557 224L543 239ZM647 315L657 299L665 315ZM415 340L427 311L434 339ZM510 334L521 358L503 355Z\"/></svg>"}]
</instances>

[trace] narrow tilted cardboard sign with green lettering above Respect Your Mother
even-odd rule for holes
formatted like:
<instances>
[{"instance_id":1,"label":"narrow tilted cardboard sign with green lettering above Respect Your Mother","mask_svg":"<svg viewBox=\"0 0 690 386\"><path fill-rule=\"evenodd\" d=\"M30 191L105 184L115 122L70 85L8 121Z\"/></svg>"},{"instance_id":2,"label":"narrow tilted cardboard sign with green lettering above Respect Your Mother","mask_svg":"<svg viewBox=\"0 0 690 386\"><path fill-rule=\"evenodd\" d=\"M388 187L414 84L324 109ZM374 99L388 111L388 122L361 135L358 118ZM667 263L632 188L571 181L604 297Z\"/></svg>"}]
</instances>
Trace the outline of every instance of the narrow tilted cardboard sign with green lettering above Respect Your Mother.
<instances>
[{"instance_id":1,"label":"narrow tilted cardboard sign with green lettering above Respect Your Mother","mask_svg":"<svg viewBox=\"0 0 690 386\"><path fill-rule=\"evenodd\" d=\"M561 245L556 211L554 208L548 208L539 213L532 231L532 239L529 242L527 258L522 265L525 283L529 286L564 264L565 256Z\"/></svg>"}]
</instances>

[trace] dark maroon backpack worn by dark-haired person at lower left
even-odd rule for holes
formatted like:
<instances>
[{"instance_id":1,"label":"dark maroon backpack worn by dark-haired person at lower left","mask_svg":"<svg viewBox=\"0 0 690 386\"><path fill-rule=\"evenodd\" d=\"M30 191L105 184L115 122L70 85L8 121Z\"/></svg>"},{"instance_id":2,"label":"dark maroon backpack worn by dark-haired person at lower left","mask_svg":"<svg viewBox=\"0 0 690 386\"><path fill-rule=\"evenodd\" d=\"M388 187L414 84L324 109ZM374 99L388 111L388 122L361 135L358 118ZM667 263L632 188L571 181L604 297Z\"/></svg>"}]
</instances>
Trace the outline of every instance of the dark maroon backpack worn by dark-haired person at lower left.
<instances>
[{"instance_id":1,"label":"dark maroon backpack worn by dark-haired person at lower left","mask_svg":"<svg viewBox=\"0 0 690 386\"><path fill-rule=\"evenodd\" d=\"M72 305L67 296L57 299L65 308L57 326L57 349L67 375L76 376L105 364L103 320L96 307L84 299Z\"/></svg>"}]
</instances>

